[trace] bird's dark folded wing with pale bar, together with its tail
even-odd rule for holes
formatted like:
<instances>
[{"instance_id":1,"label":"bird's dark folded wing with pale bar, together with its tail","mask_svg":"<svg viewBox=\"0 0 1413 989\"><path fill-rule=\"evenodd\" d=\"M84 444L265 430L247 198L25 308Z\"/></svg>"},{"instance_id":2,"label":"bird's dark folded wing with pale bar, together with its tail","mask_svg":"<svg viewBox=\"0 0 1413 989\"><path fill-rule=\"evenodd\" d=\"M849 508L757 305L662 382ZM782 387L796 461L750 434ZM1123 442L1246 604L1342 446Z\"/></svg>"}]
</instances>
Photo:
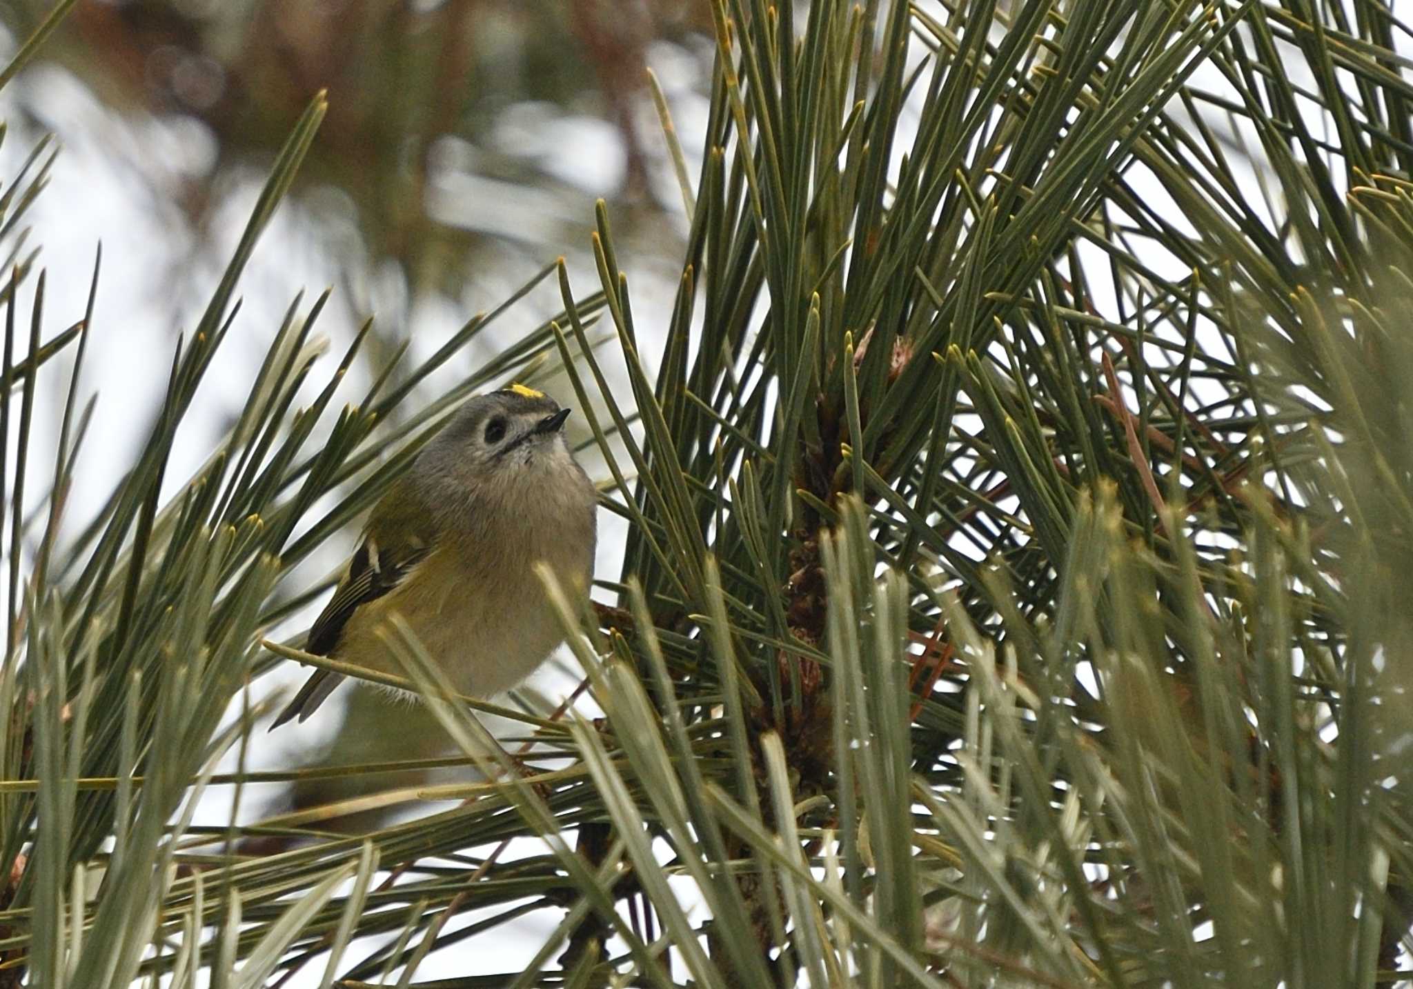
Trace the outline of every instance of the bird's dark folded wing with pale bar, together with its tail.
<instances>
[{"instance_id":1,"label":"bird's dark folded wing with pale bar, together with its tail","mask_svg":"<svg viewBox=\"0 0 1413 989\"><path fill-rule=\"evenodd\" d=\"M398 531L398 538L380 541L379 533L389 528ZM339 581L338 591L333 592L333 598L324 606L314 627L309 629L305 650L315 656L329 656L338 647L343 629L353 613L370 600L377 600L394 591L407 579L417 564L427 558L432 545L431 533L425 530L425 526L389 527L386 520L374 517L369 523L369 533L363 538L363 544L349 561L348 572ZM295 716L300 721L308 718L342 680L341 674L329 670L315 670L294 699L274 719L270 729L274 730Z\"/></svg>"}]
</instances>

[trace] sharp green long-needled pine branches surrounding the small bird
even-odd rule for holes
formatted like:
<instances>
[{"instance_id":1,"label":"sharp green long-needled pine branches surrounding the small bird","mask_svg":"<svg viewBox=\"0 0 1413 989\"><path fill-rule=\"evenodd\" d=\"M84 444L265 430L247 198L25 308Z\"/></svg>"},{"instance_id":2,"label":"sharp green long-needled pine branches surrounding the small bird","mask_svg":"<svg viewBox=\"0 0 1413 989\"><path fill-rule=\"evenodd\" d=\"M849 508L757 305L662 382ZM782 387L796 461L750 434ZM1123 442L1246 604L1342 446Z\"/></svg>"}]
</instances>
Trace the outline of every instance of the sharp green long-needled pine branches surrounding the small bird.
<instances>
[{"instance_id":1,"label":"sharp green long-needled pine branches surrounding the small bird","mask_svg":"<svg viewBox=\"0 0 1413 989\"><path fill-rule=\"evenodd\" d=\"M434 985L428 952L495 958L537 911L531 965L435 985L1409 978L1410 25L1376 0L712 14L699 174L660 102L691 222L661 355L601 203L599 284L545 267L558 318L415 413L390 415L504 308L349 396L363 336L322 357L326 297L295 301L164 499L319 96L72 540L92 302L47 300L16 237L48 148L11 179L0 985ZM41 339L45 305L73 325ZM629 523L598 606L558 602L603 716L468 705L406 640L394 682L485 773L438 794L462 804L278 853L243 851L278 819L191 828L203 788L261 778L212 766L263 730L257 689L223 722L281 661L261 643L326 591L292 568L459 398L550 366Z\"/></svg>"}]
</instances>

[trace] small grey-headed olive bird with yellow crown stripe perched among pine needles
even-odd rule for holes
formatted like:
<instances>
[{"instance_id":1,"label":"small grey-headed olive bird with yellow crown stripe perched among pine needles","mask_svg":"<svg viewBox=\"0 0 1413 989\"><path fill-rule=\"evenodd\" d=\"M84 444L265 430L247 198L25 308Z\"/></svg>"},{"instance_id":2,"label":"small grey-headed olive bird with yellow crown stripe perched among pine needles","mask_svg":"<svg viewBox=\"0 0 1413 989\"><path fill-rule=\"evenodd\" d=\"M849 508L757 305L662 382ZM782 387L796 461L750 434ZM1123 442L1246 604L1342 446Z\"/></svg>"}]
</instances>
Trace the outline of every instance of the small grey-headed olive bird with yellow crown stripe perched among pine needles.
<instances>
[{"instance_id":1,"label":"small grey-headed olive bird with yellow crown stripe perched among pine needles","mask_svg":"<svg viewBox=\"0 0 1413 989\"><path fill-rule=\"evenodd\" d=\"M305 650L382 673L398 615L462 694L524 680L564 640L534 572L588 591L598 496L564 438L568 408L513 384L471 398L373 507L363 544ZM315 671L271 729L304 721L343 677Z\"/></svg>"}]
</instances>

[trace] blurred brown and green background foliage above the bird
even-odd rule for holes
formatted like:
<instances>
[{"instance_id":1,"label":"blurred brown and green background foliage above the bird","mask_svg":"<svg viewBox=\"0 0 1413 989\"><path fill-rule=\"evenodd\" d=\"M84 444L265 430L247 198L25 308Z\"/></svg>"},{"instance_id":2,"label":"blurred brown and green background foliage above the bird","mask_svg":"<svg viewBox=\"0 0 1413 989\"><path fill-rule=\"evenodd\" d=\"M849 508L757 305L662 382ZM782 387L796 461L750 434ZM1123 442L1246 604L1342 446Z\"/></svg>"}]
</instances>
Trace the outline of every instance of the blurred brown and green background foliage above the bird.
<instances>
[{"instance_id":1,"label":"blurred brown and green background foliage above the bird","mask_svg":"<svg viewBox=\"0 0 1413 989\"><path fill-rule=\"evenodd\" d=\"M27 37L48 4L3 10ZM705 7L681 0L99 0L76 4L45 58L123 114L206 129L208 165L160 191L198 226L222 181L268 162L326 89L329 117L300 186L342 191L374 261L456 297L469 268L506 264L507 247L569 240L585 191L629 220L653 222L664 192L675 206L675 186L656 174L643 68L656 45L671 85L702 89L704 28Z\"/></svg>"}]
</instances>

